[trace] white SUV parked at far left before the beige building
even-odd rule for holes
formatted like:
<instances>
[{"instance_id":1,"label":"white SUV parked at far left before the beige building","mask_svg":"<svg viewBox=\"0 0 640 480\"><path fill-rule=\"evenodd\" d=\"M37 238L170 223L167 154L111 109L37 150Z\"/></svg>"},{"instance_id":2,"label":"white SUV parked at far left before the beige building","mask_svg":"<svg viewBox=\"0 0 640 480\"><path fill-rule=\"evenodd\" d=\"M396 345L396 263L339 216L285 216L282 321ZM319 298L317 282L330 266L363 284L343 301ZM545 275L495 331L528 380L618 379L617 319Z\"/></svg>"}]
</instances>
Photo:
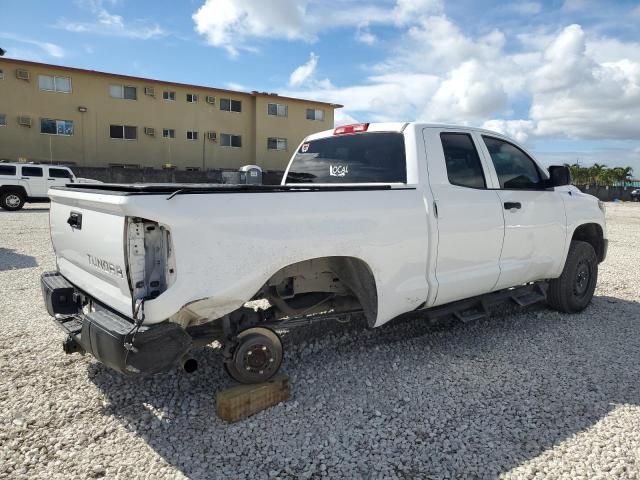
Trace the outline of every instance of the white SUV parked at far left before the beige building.
<instances>
[{"instance_id":1,"label":"white SUV parked at far left before the beige building","mask_svg":"<svg viewBox=\"0 0 640 480\"><path fill-rule=\"evenodd\" d=\"M0 207L20 210L26 202L48 202L49 188L75 181L73 172L60 165L0 163Z\"/></svg>"}]
</instances>

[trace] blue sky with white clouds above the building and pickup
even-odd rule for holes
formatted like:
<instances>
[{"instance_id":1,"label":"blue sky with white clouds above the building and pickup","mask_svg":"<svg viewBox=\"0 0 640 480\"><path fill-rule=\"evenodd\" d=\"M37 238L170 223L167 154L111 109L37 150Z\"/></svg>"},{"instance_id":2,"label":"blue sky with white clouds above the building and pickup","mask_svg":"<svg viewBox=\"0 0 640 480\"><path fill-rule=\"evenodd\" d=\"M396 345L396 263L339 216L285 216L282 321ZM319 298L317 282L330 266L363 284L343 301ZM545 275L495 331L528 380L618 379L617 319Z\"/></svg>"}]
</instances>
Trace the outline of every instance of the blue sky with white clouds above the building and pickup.
<instances>
[{"instance_id":1,"label":"blue sky with white clouds above the building and pickup","mask_svg":"<svg viewBox=\"0 0 640 480\"><path fill-rule=\"evenodd\" d=\"M640 176L640 1L3 1L7 56L499 130Z\"/></svg>"}]
</instances>

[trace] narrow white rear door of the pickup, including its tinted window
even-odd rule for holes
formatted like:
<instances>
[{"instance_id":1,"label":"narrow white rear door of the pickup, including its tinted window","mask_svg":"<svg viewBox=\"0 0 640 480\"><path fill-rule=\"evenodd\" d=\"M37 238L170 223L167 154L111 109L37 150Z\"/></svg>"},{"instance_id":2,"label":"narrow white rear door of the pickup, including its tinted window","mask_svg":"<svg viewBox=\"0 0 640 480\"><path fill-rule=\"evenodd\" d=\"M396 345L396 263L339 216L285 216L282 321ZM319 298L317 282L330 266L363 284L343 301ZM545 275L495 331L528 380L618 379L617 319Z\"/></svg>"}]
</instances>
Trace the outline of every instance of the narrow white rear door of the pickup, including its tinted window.
<instances>
[{"instance_id":1,"label":"narrow white rear door of the pickup, including its tinted window","mask_svg":"<svg viewBox=\"0 0 640 480\"><path fill-rule=\"evenodd\" d=\"M489 189L488 166L474 135L438 128L423 133L438 226L433 305L442 305L494 289L504 218L497 192Z\"/></svg>"}]
</instances>

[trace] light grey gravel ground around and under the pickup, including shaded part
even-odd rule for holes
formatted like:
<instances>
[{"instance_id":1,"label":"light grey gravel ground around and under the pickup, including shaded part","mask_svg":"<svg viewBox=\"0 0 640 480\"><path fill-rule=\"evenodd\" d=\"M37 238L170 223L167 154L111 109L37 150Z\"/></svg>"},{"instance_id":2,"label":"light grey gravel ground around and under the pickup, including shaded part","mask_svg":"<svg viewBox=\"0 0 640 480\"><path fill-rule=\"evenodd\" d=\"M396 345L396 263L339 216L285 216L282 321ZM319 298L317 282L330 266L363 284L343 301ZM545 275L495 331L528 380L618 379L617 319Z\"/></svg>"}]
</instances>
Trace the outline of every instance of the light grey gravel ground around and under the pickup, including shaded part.
<instances>
[{"instance_id":1,"label":"light grey gravel ground around and under the pickup, including shaded part","mask_svg":"<svg viewBox=\"0 0 640 480\"><path fill-rule=\"evenodd\" d=\"M48 210L0 212L0 478L640 478L640 206L608 206L591 307L285 339L289 402L215 414L220 356L145 379L65 355ZM297 338L296 338L297 337Z\"/></svg>"}]
</instances>

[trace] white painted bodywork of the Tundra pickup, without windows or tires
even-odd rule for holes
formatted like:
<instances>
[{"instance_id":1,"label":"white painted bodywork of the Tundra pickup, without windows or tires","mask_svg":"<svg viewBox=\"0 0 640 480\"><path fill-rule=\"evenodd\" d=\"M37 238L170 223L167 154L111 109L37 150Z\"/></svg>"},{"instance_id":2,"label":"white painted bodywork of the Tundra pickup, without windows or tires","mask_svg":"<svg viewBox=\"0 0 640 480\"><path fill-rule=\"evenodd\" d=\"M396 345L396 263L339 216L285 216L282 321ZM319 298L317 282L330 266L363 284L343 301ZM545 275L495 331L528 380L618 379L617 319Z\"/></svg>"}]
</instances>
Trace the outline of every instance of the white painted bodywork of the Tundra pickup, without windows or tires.
<instances>
[{"instance_id":1,"label":"white painted bodywork of the Tundra pickup, without windows or tires","mask_svg":"<svg viewBox=\"0 0 640 480\"><path fill-rule=\"evenodd\" d=\"M406 183L344 191L305 191L298 184L295 191L185 192L171 199L165 194L50 190L58 268L70 282L131 317L125 226L127 217L140 217L170 231L176 273L166 291L146 300L145 323L163 322L185 310L200 319L218 319L249 301L283 267L347 256L365 262L373 274L378 326L419 307L556 278L578 225L596 223L605 231L596 199L572 187L500 189L482 141L483 134L505 138L494 132L406 123L371 124L366 134L373 132L402 133ZM442 132L473 138L485 189L449 182ZM320 132L302 144L332 135ZM522 208L505 210L504 203L511 201ZM71 211L82 213L81 231L66 224ZM116 274L97 268L88 256L107 270L113 265Z\"/></svg>"}]
</instances>

